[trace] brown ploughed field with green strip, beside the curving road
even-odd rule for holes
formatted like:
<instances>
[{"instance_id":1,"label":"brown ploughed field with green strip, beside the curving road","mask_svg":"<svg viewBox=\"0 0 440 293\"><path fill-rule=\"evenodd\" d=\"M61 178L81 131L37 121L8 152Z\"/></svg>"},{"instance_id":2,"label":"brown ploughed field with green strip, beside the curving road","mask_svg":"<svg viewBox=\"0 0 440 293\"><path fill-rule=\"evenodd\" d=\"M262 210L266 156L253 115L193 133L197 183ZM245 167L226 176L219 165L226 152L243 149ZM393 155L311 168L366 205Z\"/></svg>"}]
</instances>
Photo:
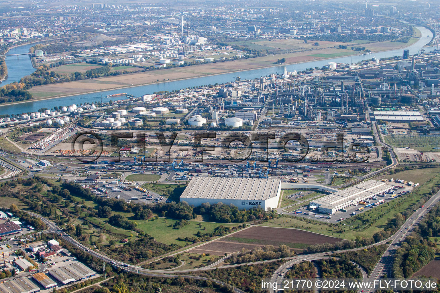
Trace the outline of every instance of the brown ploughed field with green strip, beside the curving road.
<instances>
[{"instance_id":1,"label":"brown ploughed field with green strip, beside the curving road","mask_svg":"<svg viewBox=\"0 0 440 293\"><path fill-rule=\"evenodd\" d=\"M276 240L274 240L276 239ZM273 245L279 247L286 244L291 250L301 253L307 246L318 243L335 243L340 239L319 235L298 229L272 228L253 226L236 232L231 236L208 242L202 246L191 249L192 253L210 253L212 255L224 255L246 248L253 250L256 246Z\"/></svg>"}]
</instances>

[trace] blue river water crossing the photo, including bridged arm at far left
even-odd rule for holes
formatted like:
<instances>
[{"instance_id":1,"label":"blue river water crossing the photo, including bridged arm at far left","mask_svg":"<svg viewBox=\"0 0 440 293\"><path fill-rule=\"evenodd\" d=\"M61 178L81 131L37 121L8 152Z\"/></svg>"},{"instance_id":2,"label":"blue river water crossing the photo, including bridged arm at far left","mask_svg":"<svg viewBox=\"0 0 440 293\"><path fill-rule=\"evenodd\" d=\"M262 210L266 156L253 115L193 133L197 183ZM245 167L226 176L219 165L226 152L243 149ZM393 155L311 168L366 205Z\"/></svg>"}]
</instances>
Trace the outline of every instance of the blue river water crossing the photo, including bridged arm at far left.
<instances>
[{"instance_id":1,"label":"blue river water crossing the photo, including bridged arm at far left","mask_svg":"<svg viewBox=\"0 0 440 293\"><path fill-rule=\"evenodd\" d=\"M421 26L416 26L417 29L422 33L422 37L411 46L406 49L410 50L410 54L417 54L418 50L422 49L427 43L429 43L432 39L432 33ZM20 47L15 47L9 51L9 54L21 54L27 53L29 51L29 45L23 45ZM432 51L435 47L425 47L423 48L425 52ZM397 50L383 51L383 52L375 52L368 55L355 55L348 57L337 57L326 60L318 60L318 61L309 61L304 63L297 63L291 65L280 65L270 68L262 68L262 69L251 69L245 70L241 72L231 72L224 73L215 76L203 76L196 77L186 80L176 80L169 81L163 83L154 83L143 86L136 87L126 87L118 90L106 90L103 91L103 102L109 101L110 98L106 98L109 94L117 94L120 92L127 92L128 94L132 94L136 97L142 96L143 94L152 94L155 91L172 91L179 90L187 87L197 87L201 85L207 84L215 84L215 83L226 83L234 80L234 77L239 75L242 80L254 79L260 76L268 76L272 73L283 72L284 68L287 68L287 71L301 71L310 67L318 66L321 68L323 65L326 65L327 62L337 62L337 63L356 63L358 61L363 61L366 59L375 58L388 58L392 56L401 56L403 55L403 48ZM3 81L3 85L6 83L12 83L14 81L19 81L23 76L29 75L34 72L35 69L32 67L30 58L26 55L22 56L8 56L6 58L6 64L8 69L8 76L5 81ZM122 96L124 97L124 96ZM125 98L125 97L124 97ZM114 100L115 98L113 98ZM40 101L29 101L21 104L10 104L10 105L0 105L0 115L3 114L21 114L27 112L37 112L38 109L48 108L51 109L55 106L69 106L72 104L80 104L80 103L92 103L95 101L100 101L101 97L99 93L91 93L91 94L79 94L73 95L69 97L63 98L52 98L47 100Z\"/></svg>"}]
</instances>

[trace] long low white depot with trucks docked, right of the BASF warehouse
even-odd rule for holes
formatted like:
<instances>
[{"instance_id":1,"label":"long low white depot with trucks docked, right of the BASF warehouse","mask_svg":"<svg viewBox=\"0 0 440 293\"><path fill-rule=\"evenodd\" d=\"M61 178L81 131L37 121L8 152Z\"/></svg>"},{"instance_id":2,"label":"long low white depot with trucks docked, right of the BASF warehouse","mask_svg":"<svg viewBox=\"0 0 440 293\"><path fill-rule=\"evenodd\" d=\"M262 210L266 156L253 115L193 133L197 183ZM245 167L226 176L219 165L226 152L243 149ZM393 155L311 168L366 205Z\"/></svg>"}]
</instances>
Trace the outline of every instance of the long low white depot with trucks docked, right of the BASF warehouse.
<instances>
[{"instance_id":1,"label":"long low white depot with trucks docked, right of the BASF warehouse","mask_svg":"<svg viewBox=\"0 0 440 293\"><path fill-rule=\"evenodd\" d=\"M333 214L339 209L345 209L370 196L392 190L392 188L394 185L383 181L369 180L312 200L309 208L318 208L319 213Z\"/></svg>"}]
</instances>

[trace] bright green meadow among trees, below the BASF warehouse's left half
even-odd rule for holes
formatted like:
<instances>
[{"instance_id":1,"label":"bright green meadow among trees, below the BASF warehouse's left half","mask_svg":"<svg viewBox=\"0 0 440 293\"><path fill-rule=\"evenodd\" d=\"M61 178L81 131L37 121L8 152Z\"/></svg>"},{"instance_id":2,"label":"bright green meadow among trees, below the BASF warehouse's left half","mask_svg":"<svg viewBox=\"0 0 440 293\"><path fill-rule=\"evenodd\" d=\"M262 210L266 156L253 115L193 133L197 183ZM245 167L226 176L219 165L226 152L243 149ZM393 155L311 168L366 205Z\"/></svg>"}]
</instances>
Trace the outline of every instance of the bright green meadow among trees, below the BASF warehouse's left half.
<instances>
[{"instance_id":1,"label":"bright green meadow among trees, below the BASF warehouse's left half","mask_svg":"<svg viewBox=\"0 0 440 293\"><path fill-rule=\"evenodd\" d=\"M167 219L167 218L159 218L154 221L138 221L137 228L144 231L147 234L150 234L154 237L154 239L158 242L162 242L165 244L178 244L178 245L187 245L186 241L176 240L178 237L193 237L197 235L197 232L207 233L213 232L214 228L217 228L220 225L224 226L237 226L236 224L220 224L220 223L212 223L212 222L198 222L198 221L190 221L190 224L184 226L180 229L173 229L172 226L176 222L176 220ZM202 223L202 228L199 228L199 224ZM203 230L203 227L206 230Z\"/></svg>"}]
</instances>

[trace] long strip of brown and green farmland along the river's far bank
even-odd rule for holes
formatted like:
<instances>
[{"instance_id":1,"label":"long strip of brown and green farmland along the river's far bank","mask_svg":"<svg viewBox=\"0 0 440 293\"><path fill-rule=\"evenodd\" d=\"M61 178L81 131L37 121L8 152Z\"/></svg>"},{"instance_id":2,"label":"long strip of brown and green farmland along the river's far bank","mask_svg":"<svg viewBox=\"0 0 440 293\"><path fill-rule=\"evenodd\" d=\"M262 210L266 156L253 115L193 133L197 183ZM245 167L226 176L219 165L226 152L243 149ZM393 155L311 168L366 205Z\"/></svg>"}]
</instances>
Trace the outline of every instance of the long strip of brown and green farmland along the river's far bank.
<instances>
[{"instance_id":1,"label":"long strip of brown and green farmland along the river's far bank","mask_svg":"<svg viewBox=\"0 0 440 293\"><path fill-rule=\"evenodd\" d=\"M418 39L411 39L407 43L379 42L365 44L372 52L395 50L411 46ZM381 49L379 49L381 48ZM202 76L216 76L224 73L243 72L253 69L278 67L277 59L286 58L287 65L297 65L310 61L325 61L337 57L357 56L358 51L324 48L312 51L301 51L288 54L269 55L258 58L238 59L235 61L216 62L203 65L158 69L148 72L136 72L119 76L106 76L92 80L79 80L67 83L55 83L33 87L29 92L35 97L33 100L61 98L79 94L96 93L100 90L118 90L128 87L145 86L169 81L186 80ZM372 55L371 55L372 57Z\"/></svg>"}]
</instances>

